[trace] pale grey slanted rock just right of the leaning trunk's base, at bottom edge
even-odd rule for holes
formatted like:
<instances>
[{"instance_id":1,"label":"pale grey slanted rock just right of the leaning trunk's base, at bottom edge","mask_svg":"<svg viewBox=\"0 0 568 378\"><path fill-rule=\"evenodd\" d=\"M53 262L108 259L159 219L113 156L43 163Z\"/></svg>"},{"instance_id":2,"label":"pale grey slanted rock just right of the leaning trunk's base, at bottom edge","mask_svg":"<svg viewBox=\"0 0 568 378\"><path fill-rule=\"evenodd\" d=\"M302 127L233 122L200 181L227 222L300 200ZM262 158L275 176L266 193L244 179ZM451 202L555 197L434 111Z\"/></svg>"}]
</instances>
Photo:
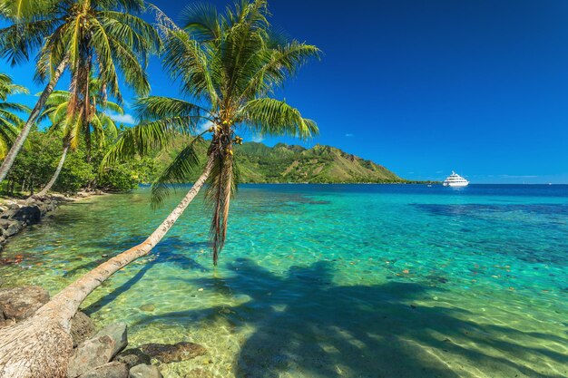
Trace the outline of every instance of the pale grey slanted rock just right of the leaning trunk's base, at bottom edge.
<instances>
[{"instance_id":1,"label":"pale grey slanted rock just right of the leaning trunk's base, at bottom edge","mask_svg":"<svg viewBox=\"0 0 568 378\"><path fill-rule=\"evenodd\" d=\"M69 359L67 377L74 378L91 372L94 368L111 361L113 358L114 341L108 335L89 339L75 349Z\"/></svg>"}]
</instances>

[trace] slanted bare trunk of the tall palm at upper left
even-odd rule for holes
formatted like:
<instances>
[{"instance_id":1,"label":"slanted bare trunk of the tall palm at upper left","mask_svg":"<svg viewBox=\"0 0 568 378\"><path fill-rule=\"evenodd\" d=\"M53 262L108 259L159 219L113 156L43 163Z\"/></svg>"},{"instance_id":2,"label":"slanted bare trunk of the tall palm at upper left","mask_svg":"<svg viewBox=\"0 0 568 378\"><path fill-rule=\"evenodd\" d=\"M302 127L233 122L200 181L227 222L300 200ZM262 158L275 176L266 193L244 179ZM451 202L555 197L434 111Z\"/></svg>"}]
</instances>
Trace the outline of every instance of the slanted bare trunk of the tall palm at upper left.
<instances>
[{"instance_id":1,"label":"slanted bare trunk of the tall palm at upper left","mask_svg":"<svg viewBox=\"0 0 568 378\"><path fill-rule=\"evenodd\" d=\"M32 130L32 126L34 126L35 120L37 120L40 112L42 111L42 109L44 109L47 98L52 92L54 92L55 84L57 84L57 82L59 81L61 74L64 73L66 65L67 58L64 58L63 62L59 63L59 65L57 66L54 76L51 78L50 82L47 84L47 86L45 86L44 92L42 92L39 100L35 103L34 109L30 113L30 117L25 122L22 131L20 131L20 134L14 141L14 144L12 144L12 148L6 155L5 160L2 162L2 166L0 166L0 182L4 181L6 175L8 174L8 171L12 168L18 152L20 152L20 150L22 149L27 135Z\"/></svg>"}]
</instances>

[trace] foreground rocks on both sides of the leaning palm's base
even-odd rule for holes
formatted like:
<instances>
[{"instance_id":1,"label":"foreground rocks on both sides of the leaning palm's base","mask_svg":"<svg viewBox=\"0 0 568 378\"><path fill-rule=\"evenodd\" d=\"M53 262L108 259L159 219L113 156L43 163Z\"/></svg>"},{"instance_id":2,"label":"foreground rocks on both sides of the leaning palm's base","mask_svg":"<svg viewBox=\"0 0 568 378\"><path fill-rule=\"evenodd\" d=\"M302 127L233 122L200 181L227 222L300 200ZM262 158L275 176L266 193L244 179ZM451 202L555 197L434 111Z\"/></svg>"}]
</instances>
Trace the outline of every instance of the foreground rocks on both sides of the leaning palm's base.
<instances>
[{"instance_id":1,"label":"foreground rocks on both sides of the leaning palm's base","mask_svg":"<svg viewBox=\"0 0 568 378\"><path fill-rule=\"evenodd\" d=\"M49 293L40 286L0 288L0 327L15 325L34 315L49 301ZM207 354L200 344L143 344L127 348L128 326L106 325L98 332L91 318L79 311L73 317L70 334L73 354L69 359L68 378L163 378L156 364L176 363ZM210 375L194 370L188 377Z\"/></svg>"}]
</instances>

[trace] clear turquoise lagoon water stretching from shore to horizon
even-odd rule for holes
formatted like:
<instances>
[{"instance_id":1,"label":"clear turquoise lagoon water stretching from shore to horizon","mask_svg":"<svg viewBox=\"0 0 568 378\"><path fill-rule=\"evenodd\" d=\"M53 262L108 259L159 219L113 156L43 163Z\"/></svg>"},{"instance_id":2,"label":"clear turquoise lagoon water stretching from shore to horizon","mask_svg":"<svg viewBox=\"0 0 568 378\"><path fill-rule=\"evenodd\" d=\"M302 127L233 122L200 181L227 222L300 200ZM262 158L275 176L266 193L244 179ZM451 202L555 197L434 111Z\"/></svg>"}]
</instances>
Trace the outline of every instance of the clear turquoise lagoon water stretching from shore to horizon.
<instances>
[{"instance_id":1,"label":"clear turquoise lagoon water stretching from shore to horizon","mask_svg":"<svg viewBox=\"0 0 568 378\"><path fill-rule=\"evenodd\" d=\"M175 206L148 189L86 199L28 228L4 285L53 294L141 242ZM568 187L243 185L213 268L197 199L151 257L83 310L133 346L208 354L166 377L568 376Z\"/></svg>"}]
</instances>

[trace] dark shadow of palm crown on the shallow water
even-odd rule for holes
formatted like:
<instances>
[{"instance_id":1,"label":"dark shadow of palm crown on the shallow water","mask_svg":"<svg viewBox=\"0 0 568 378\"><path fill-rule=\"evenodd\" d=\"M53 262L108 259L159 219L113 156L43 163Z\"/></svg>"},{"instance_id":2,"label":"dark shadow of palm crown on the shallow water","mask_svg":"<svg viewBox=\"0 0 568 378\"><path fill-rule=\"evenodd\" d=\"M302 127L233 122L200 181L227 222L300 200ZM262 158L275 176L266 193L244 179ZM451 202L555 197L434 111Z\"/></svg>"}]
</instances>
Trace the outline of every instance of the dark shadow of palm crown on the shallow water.
<instances>
[{"instance_id":1,"label":"dark shadow of palm crown on the shallow water","mask_svg":"<svg viewBox=\"0 0 568 378\"><path fill-rule=\"evenodd\" d=\"M229 269L234 275L227 278L190 282L223 296L248 298L245 303L149 315L137 325L185 319L211 325L225 321L234 329L252 326L254 332L233 365L238 377L276 378L293 372L457 378L468 371L468 376L560 378L566 373L543 375L530 366L542 359L559 366L566 361L561 353L531 346L543 334L465 320L475 316L463 309L418 305L441 293L439 287L400 282L333 286L327 262L291 267L287 276L276 276L249 259L239 259Z\"/></svg>"}]
</instances>

